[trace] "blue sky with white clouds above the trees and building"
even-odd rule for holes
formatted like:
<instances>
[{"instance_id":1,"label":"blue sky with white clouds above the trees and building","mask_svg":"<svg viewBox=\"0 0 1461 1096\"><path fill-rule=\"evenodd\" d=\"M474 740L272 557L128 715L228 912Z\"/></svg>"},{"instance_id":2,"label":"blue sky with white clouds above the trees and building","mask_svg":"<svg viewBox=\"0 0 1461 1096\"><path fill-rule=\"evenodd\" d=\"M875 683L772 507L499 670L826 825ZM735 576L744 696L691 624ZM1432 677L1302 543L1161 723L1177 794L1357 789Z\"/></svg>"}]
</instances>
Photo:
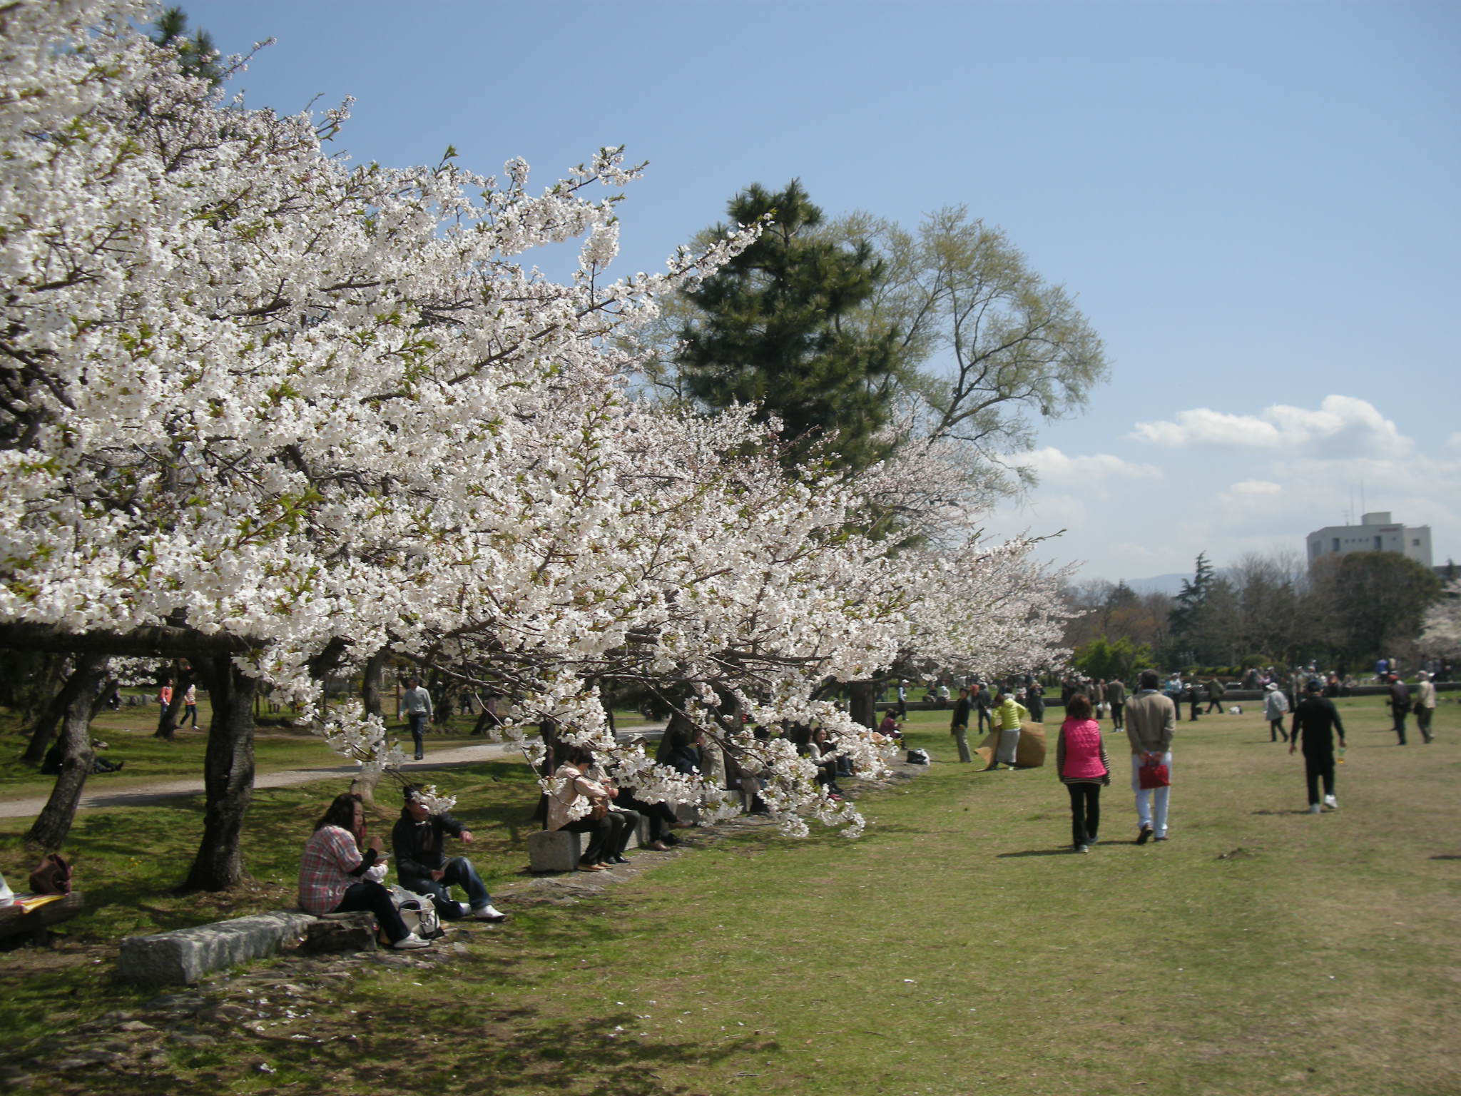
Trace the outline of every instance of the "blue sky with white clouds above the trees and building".
<instances>
[{"instance_id":1,"label":"blue sky with white clouds above the trees and building","mask_svg":"<svg viewBox=\"0 0 1461 1096\"><path fill-rule=\"evenodd\" d=\"M964 203L1072 291L1112 380L993 533L1083 579L1302 549L1365 487L1461 557L1461 6L186 3L234 89L340 146L548 184L650 161L625 273L752 181L909 227Z\"/></svg>"}]
</instances>

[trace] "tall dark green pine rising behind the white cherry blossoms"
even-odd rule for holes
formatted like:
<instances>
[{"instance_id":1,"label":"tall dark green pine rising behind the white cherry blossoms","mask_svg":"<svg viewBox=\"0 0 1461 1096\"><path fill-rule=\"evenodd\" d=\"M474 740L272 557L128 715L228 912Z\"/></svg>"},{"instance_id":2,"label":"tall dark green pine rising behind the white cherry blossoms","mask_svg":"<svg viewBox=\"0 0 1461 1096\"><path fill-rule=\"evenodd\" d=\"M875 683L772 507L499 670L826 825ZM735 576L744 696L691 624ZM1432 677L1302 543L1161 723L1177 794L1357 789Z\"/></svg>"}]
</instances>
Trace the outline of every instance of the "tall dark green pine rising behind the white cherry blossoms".
<instances>
[{"instance_id":1,"label":"tall dark green pine rising behind the white cherry blossoms","mask_svg":"<svg viewBox=\"0 0 1461 1096\"><path fill-rule=\"evenodd\" d=\"M736 224L771 222L690 294L698 317L681 330L685 390L709 408L757 402L763 418L782 421L787 463L834 431L833 462L872 463L887 452L877 433L900 358L891 333L844 319L874 292L881 263L865 243L818 237L821 209L796 180L780 193L751 186L728 212Z\"/></svg>"}]
</instances>

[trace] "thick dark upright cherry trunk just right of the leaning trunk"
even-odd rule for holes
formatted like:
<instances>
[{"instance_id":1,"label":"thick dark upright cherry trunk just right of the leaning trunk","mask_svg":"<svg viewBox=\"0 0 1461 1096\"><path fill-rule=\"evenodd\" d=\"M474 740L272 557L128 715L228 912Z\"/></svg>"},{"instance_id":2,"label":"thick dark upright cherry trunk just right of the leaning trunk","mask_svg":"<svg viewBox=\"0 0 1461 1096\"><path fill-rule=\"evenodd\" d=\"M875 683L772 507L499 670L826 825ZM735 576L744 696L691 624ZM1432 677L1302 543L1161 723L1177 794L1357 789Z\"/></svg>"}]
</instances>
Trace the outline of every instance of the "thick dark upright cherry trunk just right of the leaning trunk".
<instances>
[{"instance_id":1,"label":"thick dark upright cherry trunk just right of the leaning trunk","mask_svg":"<svg viewBox=\"0 0 1461 1096\"><path fill-rule=\"evenodd\" d=\"M213 719L203 758L203 840L184 890L225 890L244 875L240 834L254 791L254 691L259 682L231 658L193 661L207 685Z\"/></svg>"}]
</instances>

